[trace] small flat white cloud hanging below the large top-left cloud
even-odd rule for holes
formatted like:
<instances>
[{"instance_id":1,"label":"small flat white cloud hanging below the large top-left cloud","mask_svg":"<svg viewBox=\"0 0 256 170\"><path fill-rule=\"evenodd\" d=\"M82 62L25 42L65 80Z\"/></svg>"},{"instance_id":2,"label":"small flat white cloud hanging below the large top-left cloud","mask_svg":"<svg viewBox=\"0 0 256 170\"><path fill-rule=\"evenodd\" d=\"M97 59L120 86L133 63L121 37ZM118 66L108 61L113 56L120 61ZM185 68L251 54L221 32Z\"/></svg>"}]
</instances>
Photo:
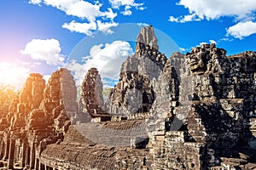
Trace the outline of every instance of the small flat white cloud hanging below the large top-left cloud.
<instances>
[{"instance_id":1,"label":"small flat white cloud hanging below the large top-left cloud","mask_svg":"<svg viewBox=\"0 0 256 170\"><path fill-rule=\"evenodd\" d=\"M72 32L75 31L75 32L83 33L87 36L91 36L92 31L96 30L96 23L93 21L90 23L79 23L73 20L70 23L64 23L62 25L62 28L66 28L67 30Z\"/></svg>"}]
</instances>

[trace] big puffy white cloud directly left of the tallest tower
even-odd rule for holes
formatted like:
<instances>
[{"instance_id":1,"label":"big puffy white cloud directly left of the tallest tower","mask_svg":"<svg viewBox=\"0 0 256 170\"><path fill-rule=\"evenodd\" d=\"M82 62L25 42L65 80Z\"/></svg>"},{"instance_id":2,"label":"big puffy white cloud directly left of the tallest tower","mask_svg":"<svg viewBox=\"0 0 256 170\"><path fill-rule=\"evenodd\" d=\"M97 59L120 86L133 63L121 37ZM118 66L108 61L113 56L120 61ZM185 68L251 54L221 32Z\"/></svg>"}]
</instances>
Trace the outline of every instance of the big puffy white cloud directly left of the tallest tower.
<instances>
[{"instance_id":1,"label":"big puffy white cloud directly left of the tallest tower","mask_svg":"<svg viewBox=\"0 0 256 170\"><path fill-rule=\"evenodd\" d=\"M73 59L64 66L73 71L78 84L92 67L96 67L100 71L102 79L113 80L118 78L121 64L131 54L133 54L133 51L129 42L115 41L97 44L90 48L90 56L86 56L84 59L86 60L85 64L79 64Z\"/></svg>"}]
</instances>

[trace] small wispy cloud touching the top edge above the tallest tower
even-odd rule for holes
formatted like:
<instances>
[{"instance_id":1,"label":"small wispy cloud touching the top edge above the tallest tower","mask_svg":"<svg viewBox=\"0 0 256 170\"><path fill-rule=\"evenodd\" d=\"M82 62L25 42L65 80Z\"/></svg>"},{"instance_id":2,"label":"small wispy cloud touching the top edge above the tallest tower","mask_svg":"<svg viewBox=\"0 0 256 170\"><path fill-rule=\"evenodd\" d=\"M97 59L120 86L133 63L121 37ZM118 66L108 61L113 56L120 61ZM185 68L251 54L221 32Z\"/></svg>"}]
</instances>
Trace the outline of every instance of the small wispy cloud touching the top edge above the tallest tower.
<instances>
[{"instance_id":1,"label":"small wispy cloud touching the top edge above the tallest tower","mask_svg":"<svg viewBox=\"0 0 256 170\"><path fill-rule=\"evenodd\" d=\"M137 10L144 10L143 3L135 3L134 0L109 0L113 8L125 7L121 14L131 15L131 8L136 8Z\"/></svg>"}]
</instances>

